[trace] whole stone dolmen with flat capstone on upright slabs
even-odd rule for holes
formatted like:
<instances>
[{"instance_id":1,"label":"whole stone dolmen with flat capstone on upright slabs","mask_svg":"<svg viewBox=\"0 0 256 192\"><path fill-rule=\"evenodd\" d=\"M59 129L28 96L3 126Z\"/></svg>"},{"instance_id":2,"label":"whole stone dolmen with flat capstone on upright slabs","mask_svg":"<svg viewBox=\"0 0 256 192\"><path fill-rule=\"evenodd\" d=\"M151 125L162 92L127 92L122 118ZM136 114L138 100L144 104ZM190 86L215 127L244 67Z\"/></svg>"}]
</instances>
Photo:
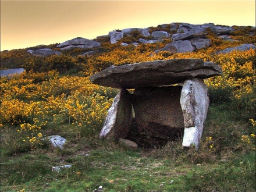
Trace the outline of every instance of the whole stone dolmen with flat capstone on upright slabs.
<instances>
[{"instance_id":1,"label":"whole stone dolmen with flat capstone on upright slabs","mask_svg":"<svg viewBox=\"0 0 256 192\"><path fill-rule=\"evenodd\" d=\"M183 148L198 150L209 106L204 79L220 75L219 65L201 59L111 66L93 74L92 83L120 89L99 137L126 138L135 120L140 134L183 138Z\"/></svg>"}]
</instances>

